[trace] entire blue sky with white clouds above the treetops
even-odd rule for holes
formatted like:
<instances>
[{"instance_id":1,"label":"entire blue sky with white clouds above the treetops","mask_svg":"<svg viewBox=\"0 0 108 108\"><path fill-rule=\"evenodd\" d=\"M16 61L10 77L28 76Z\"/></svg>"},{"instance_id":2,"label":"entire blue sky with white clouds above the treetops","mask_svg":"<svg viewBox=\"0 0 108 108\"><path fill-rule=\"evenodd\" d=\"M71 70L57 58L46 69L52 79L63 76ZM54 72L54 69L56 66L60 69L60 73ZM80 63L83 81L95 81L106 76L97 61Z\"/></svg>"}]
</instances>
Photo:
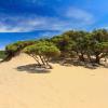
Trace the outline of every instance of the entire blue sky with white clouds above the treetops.
<instances>
[{"instance_id":1,"label":"entire blue sky with white clouds above the treetops","mask_svg":"<svg viewBox=\"0 0 108 108\"><path fill-rule=\"evenodd\" d=\"M0 0L0 49L70 29L108 28L108 0Z\"/></svg>"}]
</instances>

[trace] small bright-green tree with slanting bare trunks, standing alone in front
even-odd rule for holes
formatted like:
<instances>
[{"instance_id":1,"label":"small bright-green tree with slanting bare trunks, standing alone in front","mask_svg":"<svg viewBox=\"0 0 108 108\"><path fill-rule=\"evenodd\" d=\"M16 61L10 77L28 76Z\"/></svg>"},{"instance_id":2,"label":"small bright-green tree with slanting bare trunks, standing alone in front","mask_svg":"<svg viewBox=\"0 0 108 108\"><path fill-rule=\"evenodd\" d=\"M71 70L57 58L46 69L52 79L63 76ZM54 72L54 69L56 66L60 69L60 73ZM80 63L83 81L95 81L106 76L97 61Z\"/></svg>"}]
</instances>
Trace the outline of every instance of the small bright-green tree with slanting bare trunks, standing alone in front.
<instances>
[{"instance_id":1,"label":"small bright-green tree with slanting bare trunks, standing alone in front","mask_svg":"<svg viewBox=\"0 0 108 108\"><path fill-rule=\"evenodd\" d=\"M23 52L33 57L38 65L42 65L45 68L52 68L49 64L50 58L60 55L60 51L48 41L39 41L32 45L28 45Z\"/></svg>"}]
</instances>

